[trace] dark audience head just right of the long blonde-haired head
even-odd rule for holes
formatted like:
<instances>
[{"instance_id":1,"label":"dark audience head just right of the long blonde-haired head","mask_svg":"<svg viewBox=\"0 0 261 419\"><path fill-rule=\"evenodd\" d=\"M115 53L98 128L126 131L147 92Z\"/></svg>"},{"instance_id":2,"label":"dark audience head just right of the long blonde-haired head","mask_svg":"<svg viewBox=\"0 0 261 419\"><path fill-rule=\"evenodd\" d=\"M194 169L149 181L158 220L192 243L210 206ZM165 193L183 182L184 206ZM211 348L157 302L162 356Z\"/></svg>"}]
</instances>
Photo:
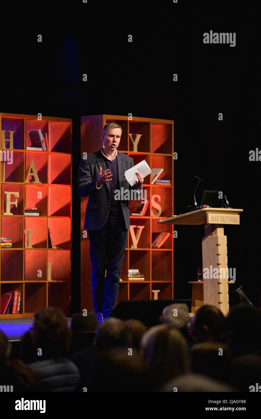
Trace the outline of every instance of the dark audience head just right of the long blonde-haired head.
<instances>
[{"instance_id":1,"label":"dark audience head just right of the long blonde-haired head","mask_svg":"<svg viewBox=\"0 0 261 419\"><path fill-rule=\"evenodd\" d=\"M191 370L227 383L231 378L232 357L227 345L220 342L203 342L191 349Z\"/></svg>"}]
</instances>

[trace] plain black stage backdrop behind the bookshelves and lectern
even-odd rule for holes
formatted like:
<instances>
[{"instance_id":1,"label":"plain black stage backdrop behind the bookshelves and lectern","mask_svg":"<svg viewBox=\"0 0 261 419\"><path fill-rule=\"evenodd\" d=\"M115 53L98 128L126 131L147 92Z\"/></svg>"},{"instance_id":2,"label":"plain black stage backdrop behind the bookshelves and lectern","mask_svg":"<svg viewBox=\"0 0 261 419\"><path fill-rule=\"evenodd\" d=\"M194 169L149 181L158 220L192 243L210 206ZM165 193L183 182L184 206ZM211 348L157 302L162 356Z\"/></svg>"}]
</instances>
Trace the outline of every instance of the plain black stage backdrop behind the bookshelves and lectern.
<instances>
[{"instance_id":1,"label":"plain black stage backdrop behind the bookshelves and lectern","mask_svg":"<svg viewBox=\"0 0 261 419\"><path fill-rule=\"evenodd\" d=\"M210 30L235 32L235 47L203 44ZM225 226L228 266L258 305L261 162L250 162L249 151L261 149L260 32L260 10L245 1L47 1L3 9L0 111L72 118L72 313L80 310L80 116L96 114L174 120L174 213L193 205L193 175L244 209L240 226ZM174 293L191 298L187 281L202 266L204 228L176 230Z\"/></svg>"}]
</instances>

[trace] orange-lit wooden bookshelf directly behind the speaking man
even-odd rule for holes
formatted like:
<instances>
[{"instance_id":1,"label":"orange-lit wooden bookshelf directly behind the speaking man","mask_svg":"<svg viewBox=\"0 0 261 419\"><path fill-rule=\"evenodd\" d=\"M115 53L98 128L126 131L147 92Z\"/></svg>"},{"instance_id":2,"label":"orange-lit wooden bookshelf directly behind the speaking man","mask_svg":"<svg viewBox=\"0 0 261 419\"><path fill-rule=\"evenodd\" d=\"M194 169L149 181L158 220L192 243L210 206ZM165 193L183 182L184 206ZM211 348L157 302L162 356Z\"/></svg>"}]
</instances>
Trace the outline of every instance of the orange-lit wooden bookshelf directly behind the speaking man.
<instances>
[{"instance_id":1,"label":"orange-lit wooden bookshelf directly behind the speaking man","mask_svg":"<svg viewBox=\"0 0 261 419\"><path fill-rule=\"evenodd\" d=\"M152 290L159 290L158 299L173 298L173 225L159 225L174 211L174 177L173 177L173 121L166 119L138 118L118 115L82 116L81 118L81 157L83 153L93 153L103 146L101 134L106 122L116 121L121 125L122 134L118 150L131 156L134 165L146 160L150 168L163 168L159 179L171 180L170 185L151 185L151 175L145 178L143 189L147 190L150 199L145 216L130 216L131 225L144 226L137 248L132 248L132 238L128 231L127 247L121 269L121 279L117 304L121 300L153 300ZM136 134L142 134L133 151ZM154 197L158 195L158 197ZM152 216L152 197L160 204L159 217ZM159 202L160 199L160 202ZM93 295L91 286L92 264L90 261L89 240L83 228L85 208L88 197L81 198L81 308L93 311ZM129 201L130 214L136 201ZM153 208L153 214L158 209ZM136 230L134 230L136 232ZM170 236L159 249L152 248L152 232L169 232ZM128 269L139 269L144 274L144 281L128 280Z\"/></svg>"}]
</instances>

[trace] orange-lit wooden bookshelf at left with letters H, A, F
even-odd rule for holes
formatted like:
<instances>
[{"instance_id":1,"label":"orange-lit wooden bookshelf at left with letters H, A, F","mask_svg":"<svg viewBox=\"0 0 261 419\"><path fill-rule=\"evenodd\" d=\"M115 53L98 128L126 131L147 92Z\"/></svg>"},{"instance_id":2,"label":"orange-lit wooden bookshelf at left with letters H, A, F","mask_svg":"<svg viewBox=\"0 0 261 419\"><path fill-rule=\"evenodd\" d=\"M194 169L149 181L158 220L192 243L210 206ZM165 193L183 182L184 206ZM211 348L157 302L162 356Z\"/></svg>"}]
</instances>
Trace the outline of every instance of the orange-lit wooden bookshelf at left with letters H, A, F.
<instances>
[{"instance_id":1,"label":"orange-lit wooden bookshelf at left with letters H, A, F","mask_svg":"<svg viewBox=\"0 0 261 419\"><path fill-rule=\"evenodd\" d=\"M12 241L12 248L0 249L0 293L21 291L20 313L1 314L0 318L30 318L37 310L47 307L59 308L68 316L72 120L47 116L38 120L33 115L0 113L0 126L1 237ZM31 129L47 133L49 151L26 150L31 147L28 136ZM13 148L10 148L11 137ZM4 151L13 152L12 164L4 161ZM38 179L30 175L32 167ZM16 202L10 204L11 215L5 215L8 191L12 192L10 202ZM26 207L37 207L39 216L26 216ZM52 248L48 247L49 231Z\"/></svg>"}]
</instances>

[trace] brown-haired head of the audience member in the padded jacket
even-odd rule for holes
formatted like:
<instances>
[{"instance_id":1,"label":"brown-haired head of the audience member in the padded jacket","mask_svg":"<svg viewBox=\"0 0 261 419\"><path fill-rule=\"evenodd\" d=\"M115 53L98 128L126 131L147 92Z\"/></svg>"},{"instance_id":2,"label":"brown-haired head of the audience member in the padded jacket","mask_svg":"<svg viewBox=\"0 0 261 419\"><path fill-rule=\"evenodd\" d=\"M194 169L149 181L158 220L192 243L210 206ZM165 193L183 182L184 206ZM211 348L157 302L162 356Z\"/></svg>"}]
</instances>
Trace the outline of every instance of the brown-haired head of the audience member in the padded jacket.
<instances>
[{"instance_id":1,"label":"brown-haired head of the audience member in the padded jacket","mask_svg":"<svg viewBox=\"0 0 261 419\"><path fill-rule=\"evenodd\" d=\"M60 310L44 308L34 315L33 341L43 357L65 357L71 341L67 319Z\"/></svg>"}]
</instances>

